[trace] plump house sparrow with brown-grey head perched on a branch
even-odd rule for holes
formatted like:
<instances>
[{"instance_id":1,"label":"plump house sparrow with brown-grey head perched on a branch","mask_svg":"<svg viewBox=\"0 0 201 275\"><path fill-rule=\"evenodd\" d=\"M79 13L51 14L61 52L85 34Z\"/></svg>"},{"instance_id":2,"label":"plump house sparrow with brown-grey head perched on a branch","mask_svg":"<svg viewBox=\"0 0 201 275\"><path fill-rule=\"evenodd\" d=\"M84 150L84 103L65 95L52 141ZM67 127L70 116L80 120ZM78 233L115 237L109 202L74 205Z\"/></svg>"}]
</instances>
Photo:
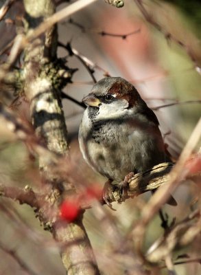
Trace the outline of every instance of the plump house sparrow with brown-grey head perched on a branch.
<instances>
[{"instance_id":1,"label":"plump house sparrow with brown-grey head perched on a branch","mask_svg":"<svg viewBox=\"0 0 201 275\"><path fill-rule=\"evenodd\" d=\"M137 89L120 77L99 80L82 100L80 150L98 173L119 185L130 172L169 162L158 119ZM106 193L104 200L110 206Z\"/></svg>"}]
</instances>

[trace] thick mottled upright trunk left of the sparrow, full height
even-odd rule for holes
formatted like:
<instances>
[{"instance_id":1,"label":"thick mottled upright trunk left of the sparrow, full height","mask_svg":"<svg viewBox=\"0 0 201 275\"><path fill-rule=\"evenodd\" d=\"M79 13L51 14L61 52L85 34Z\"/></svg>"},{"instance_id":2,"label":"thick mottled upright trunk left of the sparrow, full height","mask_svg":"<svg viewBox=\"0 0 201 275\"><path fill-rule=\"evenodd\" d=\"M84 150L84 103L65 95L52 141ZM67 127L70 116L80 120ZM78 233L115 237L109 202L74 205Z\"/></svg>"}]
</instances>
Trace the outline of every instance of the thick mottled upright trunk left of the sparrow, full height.
<instances>
[{"instance_id":1,"label":"thick mottled upright trunk left of the sparrow, full height","mask_svg":"<svg viewBox=\"0 0 201 275\"><path fill-rule=\"evenodd\" d=\"M86 2L92 3L95 0L76 1L56 14L54 14L53 8L54 1L24 1L25 10L28 14L28 40L32 41L46 30L45 42L41 37L34 40L32 45L27 47L25 54L25 94L30 102L32 124L36 129L37 135L43 137L50 151L60 155L67 155L67 127L62 110L61 91L60 88L54 86L52 80L54 77L51 74L51 70L55 69L52 59L56 58L54 56L54 47L57 37L54 29L50 28L54 23L67 16L68 11L71 14L71 12L78 10L79 6L84 7ZM43 16L43 12L45 12L45 18L49 18L40 24L38 18ZM47 182L53 186L54 207L58 206L57 210L59 210L64 184L68 184L68 182L65 182L62 175L54 172L54 169L49 165L47 159L44 159L43 155L39 156L39 162L40 168L43 168L42 170L45 172L44 175ZM56 190L56 193L54 193L54 190ZM75 194L75 190L72 189L70 191ZM54 194L56 195L54 196ZM43 209L41 209L40 215L43 220L43 217L46 216ZM61 250L62 262L69 275L99 274L91 243L82 225L82 215L77 222L70 224L62 223L60 220L56 221L53 232L55 239L61 244L73 243L72 245L64 246Z\"/></svg>"}]
</instances>

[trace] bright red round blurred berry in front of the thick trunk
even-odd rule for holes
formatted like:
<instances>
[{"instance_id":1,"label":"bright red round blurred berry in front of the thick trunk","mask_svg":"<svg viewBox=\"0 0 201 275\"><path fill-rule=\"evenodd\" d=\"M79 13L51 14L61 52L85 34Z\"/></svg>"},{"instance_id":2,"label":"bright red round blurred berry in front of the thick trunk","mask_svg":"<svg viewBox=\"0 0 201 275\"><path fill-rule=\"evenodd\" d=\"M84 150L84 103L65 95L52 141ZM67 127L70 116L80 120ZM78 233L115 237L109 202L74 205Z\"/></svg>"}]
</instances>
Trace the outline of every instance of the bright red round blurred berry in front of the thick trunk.
<instances>
[{"instance_id":1,"label":"bright red round blurred berry in front of the thick trunk","mask_svg":"<svg viewBox=\"0 0 201 275\"><path fill-rule=\"evenodd\" d=\"M63 201L60 206L60 217L65 221L74 221L78 214L80 213L80 208L78 201Z\"/></svg>"}]
</instances>

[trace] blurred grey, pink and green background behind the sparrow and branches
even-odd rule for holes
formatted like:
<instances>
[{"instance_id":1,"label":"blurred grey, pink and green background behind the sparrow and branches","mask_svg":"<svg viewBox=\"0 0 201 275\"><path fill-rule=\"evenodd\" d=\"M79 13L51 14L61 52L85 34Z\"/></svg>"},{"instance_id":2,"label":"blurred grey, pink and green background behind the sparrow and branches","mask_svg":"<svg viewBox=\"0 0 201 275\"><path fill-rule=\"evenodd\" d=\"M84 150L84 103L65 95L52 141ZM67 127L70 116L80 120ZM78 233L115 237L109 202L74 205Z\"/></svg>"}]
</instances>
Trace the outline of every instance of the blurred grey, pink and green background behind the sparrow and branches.
<instances>
[{"instance_id":1,"label":"blurred grey, pink and green background behind the sparrow and branches","mask_svg":"<svg viewBox=\"0 0 201 275\"><path fill-rule=\"evenodd\" d=\"M58 10L74 1L67 2L70 3L58 5ZM73 49L88 58L88 62L93 64L96 80L106 74L121 76L137 87L148 106L155 108L168 150L177 159L200 118L201 4L200 1L143 1L147 14L150 14L150 18L146 18L136 1L125 2L123 8L117 9L104 1L96 1L80 10L73 14L71 22L67 19L58 24L58 40L64 44L71 43ZM0 1L0 6L3 3ZM15 1L6 20L0 22L0 50L14 38L14 22L23 14L23 3ZM64 92L81 101L93 86L91 75L76 56L69 56L62 47L58 47L58 56L66 58L69 67L78 68L73 75L73 82L64 88ZM6 54L1 55L0 62L5 61L6 57ZM173 105L161 107L166 104ZM84 109L67 99L63 100L63 106L69 131L71 171L78 177L82 175L80 180L84 179L89 185L103 186L106 179L95 174L84 163L78 146L78 129ZM18 111L23 114L27 112L25 102ZM3 122L0 126L0 142L0 181L36 186L36 164L29 158L24 144L5 130ZM196 185L190 181L178 188L174 194L178 206L164 206L169 222L174 217L177 221L186 217L191 211L191 201L196 197L196 192ZM121 205L115 203L116 212L104 206L122 234L126 234L137 221L140 209L149 196L141 195ZM0 213L0 274L26 273L14 257L2 249L5 245L34 270L33 274L65 274L51 234L40 228L29 206L19 206L1 198ZM160 219L156 217L147 229L145 250L163 233L160 224ZM97 223L93 210L87 210L84 214L84 225L100 270L108 275L123 274L123 267L114 265L109 259L113 244L104 234L107 229ZM199 245L195 242L190 248L178 251L174 259L180 254L190 254L196 258L199 252ZM189 272L201 274L198 263L177 265L176 271L182 275ZM167 273L164 270L160 274Z\"/></svg>"}]
</instances>

